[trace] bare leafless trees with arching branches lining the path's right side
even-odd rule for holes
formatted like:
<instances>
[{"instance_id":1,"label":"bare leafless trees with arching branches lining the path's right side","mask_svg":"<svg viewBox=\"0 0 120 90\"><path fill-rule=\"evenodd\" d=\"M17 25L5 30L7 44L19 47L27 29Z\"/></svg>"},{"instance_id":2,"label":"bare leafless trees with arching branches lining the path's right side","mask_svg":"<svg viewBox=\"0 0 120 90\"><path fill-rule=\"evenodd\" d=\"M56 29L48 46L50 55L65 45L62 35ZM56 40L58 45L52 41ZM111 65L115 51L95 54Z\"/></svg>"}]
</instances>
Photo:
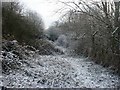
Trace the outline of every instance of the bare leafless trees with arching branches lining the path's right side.
<instances>
[{"instance_id":1,"label":"bare leafless trees with arching branches lining the path's right side","mask_svg":"<svg viewBox=\"0 0 120 90\"><path fill-rule=\"evenodd\" d=\"M120 66L118 65L120 63L120 1L59 2L70 8L66 14L67 20L65 19L61 27L64 31L77 34L75 36L79 41L75 47L75 50L79 51L77 53L87 54L97 62L107 65L113 65L115 61L113 66L118 70Z\"/></svg>"}]
</instances>

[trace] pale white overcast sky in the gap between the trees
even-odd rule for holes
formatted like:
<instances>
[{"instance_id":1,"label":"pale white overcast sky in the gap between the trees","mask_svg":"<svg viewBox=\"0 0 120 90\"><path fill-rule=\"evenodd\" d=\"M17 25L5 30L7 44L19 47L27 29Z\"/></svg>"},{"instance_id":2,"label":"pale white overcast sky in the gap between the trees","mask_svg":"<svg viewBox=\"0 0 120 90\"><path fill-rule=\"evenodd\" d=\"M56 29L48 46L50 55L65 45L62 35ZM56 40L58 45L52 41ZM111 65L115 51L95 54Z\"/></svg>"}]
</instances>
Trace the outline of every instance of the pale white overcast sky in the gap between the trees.
<instances>
[{"instance_id":1,"label":"pale white overcast sky in the gap between the trees","mask_svg":"<svg viewBox=\"0 0 120 90\"><path fill-rule=\"evenodd\" d=\"M24 5L38 12L44 20L45 28L48 28L54 21L60 17L57 12L63 4L57 3L57 0L20 0Z\"/></svg>"}]
</instances>

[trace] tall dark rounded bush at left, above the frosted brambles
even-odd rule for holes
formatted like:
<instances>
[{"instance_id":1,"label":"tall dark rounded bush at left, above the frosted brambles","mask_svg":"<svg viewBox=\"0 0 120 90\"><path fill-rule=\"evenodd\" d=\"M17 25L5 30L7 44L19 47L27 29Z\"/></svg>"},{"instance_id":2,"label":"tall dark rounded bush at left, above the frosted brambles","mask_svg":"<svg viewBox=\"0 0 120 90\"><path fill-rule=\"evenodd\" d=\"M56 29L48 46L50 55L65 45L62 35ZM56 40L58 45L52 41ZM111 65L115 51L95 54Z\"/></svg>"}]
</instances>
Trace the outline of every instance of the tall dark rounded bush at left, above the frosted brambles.
<instances>
[{"instance_id":1,"label":"tall dark rounded bush at left, above the frosted brambles","mask_svg":"<svg viewBox=\"0 0 120 90\"><path fill-rule=\"evenodd\" d=\"M43 22L34 11L26 11L16 2L5 2L2 5L3 37L16 39L21 43L30 44L31 40L43 35Z\"/></svg>"}]
</instances>

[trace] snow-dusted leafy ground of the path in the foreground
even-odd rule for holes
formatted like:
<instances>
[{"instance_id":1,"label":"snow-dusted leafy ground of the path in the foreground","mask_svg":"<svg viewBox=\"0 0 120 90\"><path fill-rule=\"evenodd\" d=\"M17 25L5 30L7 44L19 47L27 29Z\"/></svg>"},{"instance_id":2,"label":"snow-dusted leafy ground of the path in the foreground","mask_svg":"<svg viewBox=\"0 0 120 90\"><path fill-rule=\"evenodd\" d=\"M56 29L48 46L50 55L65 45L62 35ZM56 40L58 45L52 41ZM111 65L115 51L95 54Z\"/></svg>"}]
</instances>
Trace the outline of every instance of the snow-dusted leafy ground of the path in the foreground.
<instances>
[{"instance_id":1,"label":"snow-dusted leafy ground of the path in the foreground","mask_svg":"<svg viewBox=\"0 0 120 90\"><path fill-rule=\"evenodd\" d=\"M7 87L112 88L119 79L85 58L38 56L4 77Z\"/></svg>"}]
</instances>

